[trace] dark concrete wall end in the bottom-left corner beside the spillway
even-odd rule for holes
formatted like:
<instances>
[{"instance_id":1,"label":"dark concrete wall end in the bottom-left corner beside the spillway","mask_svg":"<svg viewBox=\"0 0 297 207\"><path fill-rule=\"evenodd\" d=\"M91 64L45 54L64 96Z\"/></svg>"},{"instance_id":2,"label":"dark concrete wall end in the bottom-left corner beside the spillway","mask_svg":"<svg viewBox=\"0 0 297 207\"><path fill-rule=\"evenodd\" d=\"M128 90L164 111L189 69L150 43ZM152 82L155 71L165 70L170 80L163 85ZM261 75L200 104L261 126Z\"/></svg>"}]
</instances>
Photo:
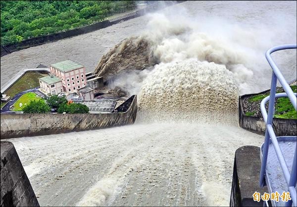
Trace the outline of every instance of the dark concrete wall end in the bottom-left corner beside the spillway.
<instances>
[{"instance_id":1,"label":"dark concrete wall end in the bottom-left corner beside the spillway","mask_svg":"<svg viewBox=\"0 0 297 207\"><path fill-rule=\"evenodd\" d=\"M1 207L39 207L11 142L1 142Z\"/></svg>"}]
</instances>

